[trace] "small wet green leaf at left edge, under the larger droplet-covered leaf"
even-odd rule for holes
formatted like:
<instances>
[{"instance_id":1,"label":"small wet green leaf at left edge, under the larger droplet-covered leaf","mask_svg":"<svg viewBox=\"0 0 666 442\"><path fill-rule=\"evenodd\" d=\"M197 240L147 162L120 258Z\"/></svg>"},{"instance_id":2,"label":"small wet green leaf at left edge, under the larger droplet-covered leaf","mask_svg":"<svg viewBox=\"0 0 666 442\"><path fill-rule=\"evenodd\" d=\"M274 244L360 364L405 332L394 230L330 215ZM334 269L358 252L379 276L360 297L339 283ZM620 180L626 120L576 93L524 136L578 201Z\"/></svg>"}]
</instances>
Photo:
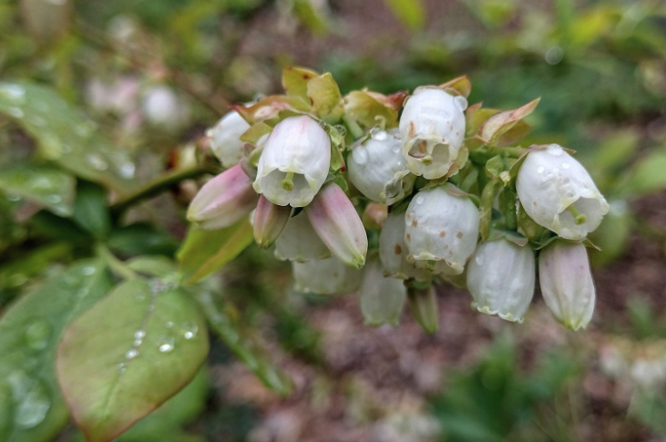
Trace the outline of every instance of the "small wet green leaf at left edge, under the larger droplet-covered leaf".
<instances>
[{"instance_id":1,"label":"small wet green leaf at left edge, under the larger droplet-covered leaf","mask_svg":"<svg viewBox=\"0 0 666 442\"><path fill-rule=\"evenodd\" d=\"M22 164L0 170L0 190L8 197L25 198L59 216L72 216L76 184L66 171L48 166Z\"/></svg>"}]
</instances>

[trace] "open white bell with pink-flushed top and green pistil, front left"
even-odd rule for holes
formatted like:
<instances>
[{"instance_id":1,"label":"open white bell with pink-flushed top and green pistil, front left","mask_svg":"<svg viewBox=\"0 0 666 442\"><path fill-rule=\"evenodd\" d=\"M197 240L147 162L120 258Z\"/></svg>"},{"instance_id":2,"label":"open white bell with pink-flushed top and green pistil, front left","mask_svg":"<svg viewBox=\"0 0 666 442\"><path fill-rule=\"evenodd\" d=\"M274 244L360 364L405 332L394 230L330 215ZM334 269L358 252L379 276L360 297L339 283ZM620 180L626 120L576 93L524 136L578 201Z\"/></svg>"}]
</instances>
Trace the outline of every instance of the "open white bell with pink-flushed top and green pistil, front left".
<instances>
[{"instance_id":1,"label":"open white bell with pink-flushed top and green pistil, front left","mask_svg":"<svg viewBox=\"0 0 666 442\"><path fill-rule=\"evenodd\" d=\"M254 189L273 204L304 207L322 188L331 166L331 139L309 117L283 119L261 153Z\"/></svg>"}]
</instances>

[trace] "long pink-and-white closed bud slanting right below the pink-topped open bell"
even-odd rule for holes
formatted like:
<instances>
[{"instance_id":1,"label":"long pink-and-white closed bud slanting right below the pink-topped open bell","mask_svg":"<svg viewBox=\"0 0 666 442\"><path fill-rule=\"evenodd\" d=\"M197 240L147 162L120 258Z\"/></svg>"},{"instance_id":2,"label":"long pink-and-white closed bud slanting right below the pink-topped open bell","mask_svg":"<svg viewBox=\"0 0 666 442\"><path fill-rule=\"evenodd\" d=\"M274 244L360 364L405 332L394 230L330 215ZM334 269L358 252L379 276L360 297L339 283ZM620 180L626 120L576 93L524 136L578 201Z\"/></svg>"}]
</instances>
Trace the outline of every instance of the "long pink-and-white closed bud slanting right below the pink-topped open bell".
<instances>
[{"instance_id":1,"label":"long pink-and-white closed bud slanting right below the pink-topped open bell","mask_svg":"<svg viewBox=\"0 0 666 442\"><path fill-rule=\"evenodd\" d=\"M364 266L368 237L363 221L340 186L334 182L325 185L305 212L314 231L340 261L357 269Z\"/></svg>"}]
</instances>

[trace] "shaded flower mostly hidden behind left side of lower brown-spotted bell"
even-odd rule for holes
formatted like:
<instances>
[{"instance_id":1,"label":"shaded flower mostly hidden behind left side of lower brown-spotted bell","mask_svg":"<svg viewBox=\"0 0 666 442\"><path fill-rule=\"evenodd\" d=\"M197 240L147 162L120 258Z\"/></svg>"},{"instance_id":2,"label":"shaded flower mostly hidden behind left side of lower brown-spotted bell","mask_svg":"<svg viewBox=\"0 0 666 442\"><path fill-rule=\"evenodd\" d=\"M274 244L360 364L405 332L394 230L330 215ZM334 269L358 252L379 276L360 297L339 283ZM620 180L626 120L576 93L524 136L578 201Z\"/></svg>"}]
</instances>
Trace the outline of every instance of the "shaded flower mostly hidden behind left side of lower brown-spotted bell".
<instances>
[{"instance_id":1,"label":"shaded flower mostly hidden behind left side of lower brown-spotted bell","mask_svg":"<svg viewBox=\"0 0 666 442\"><path fill-rule=\"evenodd\" d=\"M379 259L384 266L384 272L394 278L430 281L431 273L425 269L425 265L418 267L419 262L408 262L408 253L405 243L405 212L391 213L379 234Z\"/></svg>"}]
</instances>

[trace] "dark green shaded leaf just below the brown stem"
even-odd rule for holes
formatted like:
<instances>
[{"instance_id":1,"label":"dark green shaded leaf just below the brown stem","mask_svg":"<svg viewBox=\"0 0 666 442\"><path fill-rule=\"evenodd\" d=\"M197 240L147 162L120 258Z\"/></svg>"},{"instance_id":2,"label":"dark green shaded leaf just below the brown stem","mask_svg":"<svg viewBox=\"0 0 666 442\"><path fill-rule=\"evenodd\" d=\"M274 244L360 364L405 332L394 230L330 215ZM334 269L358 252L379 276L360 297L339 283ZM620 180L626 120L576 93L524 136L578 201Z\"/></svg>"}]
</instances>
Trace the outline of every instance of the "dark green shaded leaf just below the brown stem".
<instances>
[{"instance_id":1,"label":"dark green shaded leaf just below the brown stem","mask_svg":"<svg viewBox=\"0 0 666 442\"><path fill-rule=\"evenodd\" d=\"M173 256L179 247L178 240L171 234L144 222L112 231L107 244L111 250L125 256Z\"/></svg>"}]
</instances>

